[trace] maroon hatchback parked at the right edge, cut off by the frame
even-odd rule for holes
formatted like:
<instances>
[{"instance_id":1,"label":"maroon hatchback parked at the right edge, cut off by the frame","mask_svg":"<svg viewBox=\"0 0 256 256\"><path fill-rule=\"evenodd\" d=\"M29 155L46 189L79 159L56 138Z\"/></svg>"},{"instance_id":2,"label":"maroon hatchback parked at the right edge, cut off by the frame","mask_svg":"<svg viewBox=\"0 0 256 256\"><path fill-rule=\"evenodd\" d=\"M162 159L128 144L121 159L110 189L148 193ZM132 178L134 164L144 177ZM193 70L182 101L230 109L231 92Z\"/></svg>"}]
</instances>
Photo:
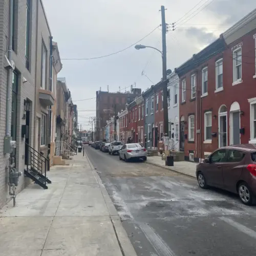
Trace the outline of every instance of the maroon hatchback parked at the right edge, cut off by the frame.
<instances>
[{"instance_id":1,"label":"maroon hatchback parked at the right edge, cut off by the frame","mask_svg":"<svg viewBox=\"0 0 256 256\"><path fill-rule=\"evenodd\" d=\"M246 205L256 203L256 144L221 147L197 165L201 188L219 187L239 195Z\"/></svg>"}]
</instances>

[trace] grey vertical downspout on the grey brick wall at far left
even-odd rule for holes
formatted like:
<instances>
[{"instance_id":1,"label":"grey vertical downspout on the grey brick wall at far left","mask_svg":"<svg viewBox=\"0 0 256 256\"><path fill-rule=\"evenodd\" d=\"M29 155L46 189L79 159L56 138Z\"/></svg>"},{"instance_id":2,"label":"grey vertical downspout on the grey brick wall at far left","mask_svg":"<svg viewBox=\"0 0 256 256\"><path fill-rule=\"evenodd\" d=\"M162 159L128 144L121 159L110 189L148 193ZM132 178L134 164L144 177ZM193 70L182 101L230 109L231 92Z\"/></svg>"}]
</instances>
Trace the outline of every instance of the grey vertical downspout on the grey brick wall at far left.
<instances>
[{"instance_id":1,"label":"grey vertical downspout on the grey brick wall at far left","mask_svg":"<svg viewBox=\"0 0 256 256\"><path fill-rule=\"evenodd\" d=\"M12 36L13 36L13 0L10 0L9 2L9 35L8 35L8 59L9 61L12 60ZM7 74L7 100L6 100L6 137L5 139L10 138L11 134L11 114L12 114L12 75L13 75L13 69L8 69ZM5 153L10 153L8 151L5 151Z\"/></svg>"}]
</instances>

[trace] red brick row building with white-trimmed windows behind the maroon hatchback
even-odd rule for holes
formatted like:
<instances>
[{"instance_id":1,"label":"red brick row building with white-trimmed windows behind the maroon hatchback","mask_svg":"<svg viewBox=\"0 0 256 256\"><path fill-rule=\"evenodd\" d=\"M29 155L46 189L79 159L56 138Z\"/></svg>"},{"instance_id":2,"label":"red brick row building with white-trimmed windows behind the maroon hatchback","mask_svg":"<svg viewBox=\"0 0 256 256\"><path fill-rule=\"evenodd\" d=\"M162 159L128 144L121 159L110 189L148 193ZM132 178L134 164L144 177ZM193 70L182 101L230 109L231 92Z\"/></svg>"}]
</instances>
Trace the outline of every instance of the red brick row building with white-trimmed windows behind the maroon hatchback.
<instances>
[{"instance_id":1,"label":"red brick row building with white-trimmed windows behind the maroon hatchback","mask_svg":"<svg viewBox=\"0 0 256 256\"><path fill-rule=\"evenodd\" d=\"M256 143L255 28L254 10L176 69L185 160Z\"/></svg>"}]
</instances>

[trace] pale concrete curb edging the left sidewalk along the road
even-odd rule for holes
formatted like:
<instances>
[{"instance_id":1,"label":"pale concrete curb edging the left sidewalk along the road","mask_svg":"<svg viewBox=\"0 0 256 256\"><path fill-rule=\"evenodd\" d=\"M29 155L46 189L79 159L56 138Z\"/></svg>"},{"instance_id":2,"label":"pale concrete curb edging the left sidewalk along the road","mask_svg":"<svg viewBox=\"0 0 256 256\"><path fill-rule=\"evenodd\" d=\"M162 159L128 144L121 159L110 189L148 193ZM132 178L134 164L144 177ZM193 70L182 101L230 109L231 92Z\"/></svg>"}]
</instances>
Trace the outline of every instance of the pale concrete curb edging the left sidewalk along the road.
<instances>
[{"instance_id":1,"label":"pale concrete curb edging the left sidewalk along the road","mask_svg":"<svg viewBox=\"0 0 256 256\"><path fill-rule=\"evenodd\" d=\"M93 164L90 161L90 159L85 151L84 151L84 156L87 158L88 163L91 166L94 176L99 184L99 188L100 188L102 196L104 198L106 207L109 210L110 220L112 222L113 229L116 234L116 239L119 244L122 255L123 256L137 256L137 253L135 252L132 242L130 241L125 229L122 226L121 219L120 219L120 216L118 215L116 207L115 207L114 203L112 202L108 191L106 190L100 176L94 169Z\"/></svg>"}]
</instances>

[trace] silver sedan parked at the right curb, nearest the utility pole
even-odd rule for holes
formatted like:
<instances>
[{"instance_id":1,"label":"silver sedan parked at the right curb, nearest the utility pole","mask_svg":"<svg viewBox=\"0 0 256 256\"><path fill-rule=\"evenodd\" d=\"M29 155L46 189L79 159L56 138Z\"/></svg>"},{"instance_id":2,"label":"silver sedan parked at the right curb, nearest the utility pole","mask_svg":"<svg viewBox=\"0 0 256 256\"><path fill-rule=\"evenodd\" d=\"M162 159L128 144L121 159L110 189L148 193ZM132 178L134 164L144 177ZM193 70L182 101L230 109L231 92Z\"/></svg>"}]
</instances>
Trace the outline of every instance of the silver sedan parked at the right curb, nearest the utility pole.
<instances>
[{"instance_id":1,"label":"silver sedan parked at the right curb, nearest the utility pole","mask_svg":"<svg viewBox=\"0 0 256 256\"><path fill-rule=\"evenodd\" d=\"M119 159L127 162L130 159L146 161L146 148L139 143L124 144L119 151Z\"/></svg>"}]
</instances>

